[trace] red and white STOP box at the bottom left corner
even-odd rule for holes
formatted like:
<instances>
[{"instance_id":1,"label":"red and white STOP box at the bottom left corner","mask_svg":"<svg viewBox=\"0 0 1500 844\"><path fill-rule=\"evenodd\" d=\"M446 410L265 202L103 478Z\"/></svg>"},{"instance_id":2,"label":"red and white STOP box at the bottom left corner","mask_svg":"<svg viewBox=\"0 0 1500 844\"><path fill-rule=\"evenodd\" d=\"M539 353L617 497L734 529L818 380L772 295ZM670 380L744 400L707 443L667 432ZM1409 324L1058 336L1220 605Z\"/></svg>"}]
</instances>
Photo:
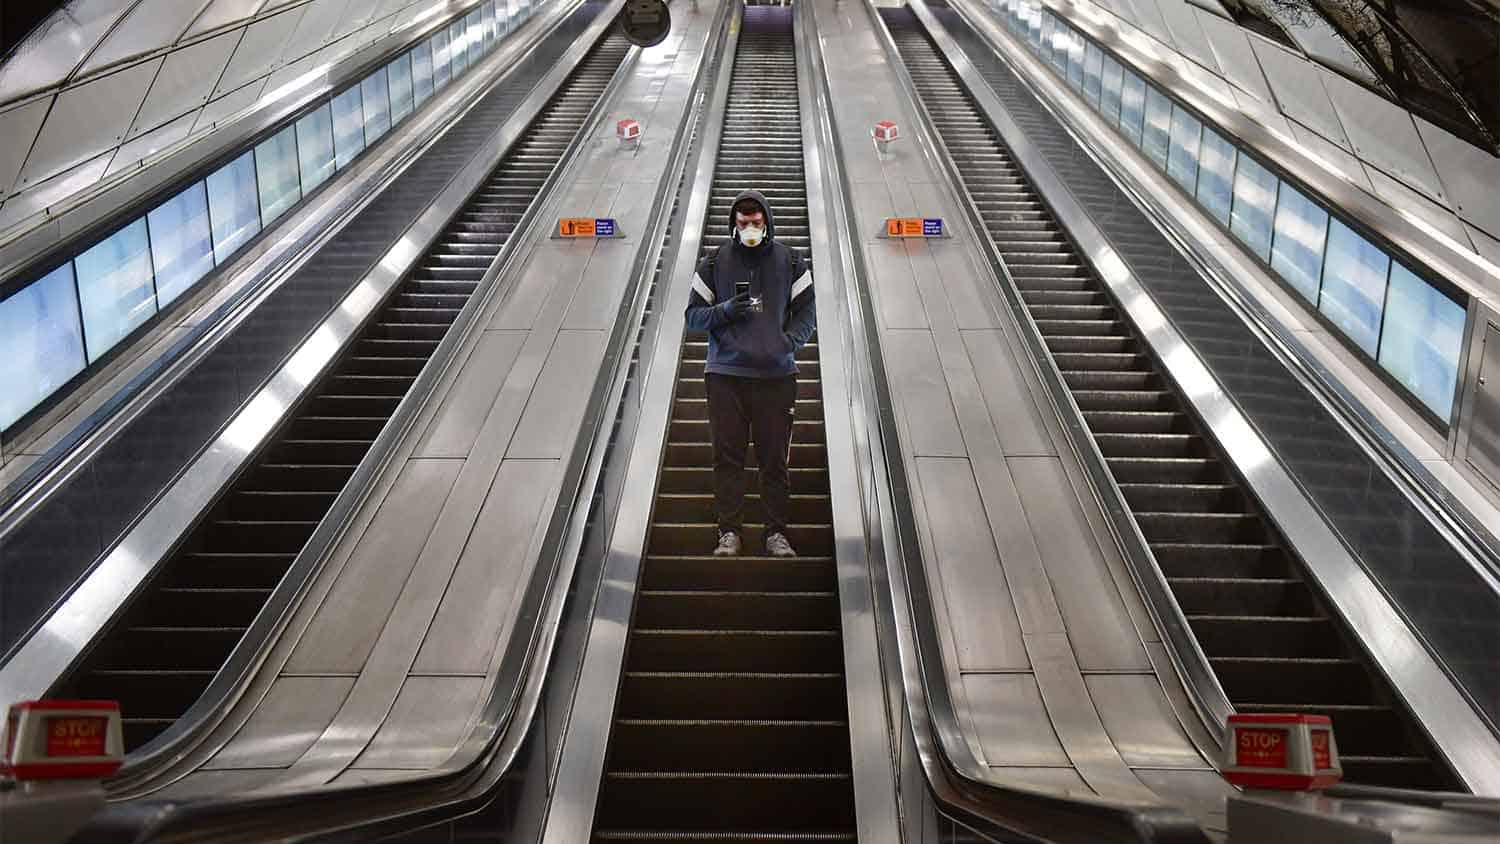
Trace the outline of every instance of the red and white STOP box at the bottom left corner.
<instances>
[{"instance_id":1,"label":"red and white STOP box at the bottom left corner","mask_svg":"<svg viewBox=\"0 0 1500 844\"><path fill-rule=\"evenodd\" d=\"M12 703L3 747L3 777L102 780L124 760L120 705L112 700Z\"/></svg>"}]
</instances>

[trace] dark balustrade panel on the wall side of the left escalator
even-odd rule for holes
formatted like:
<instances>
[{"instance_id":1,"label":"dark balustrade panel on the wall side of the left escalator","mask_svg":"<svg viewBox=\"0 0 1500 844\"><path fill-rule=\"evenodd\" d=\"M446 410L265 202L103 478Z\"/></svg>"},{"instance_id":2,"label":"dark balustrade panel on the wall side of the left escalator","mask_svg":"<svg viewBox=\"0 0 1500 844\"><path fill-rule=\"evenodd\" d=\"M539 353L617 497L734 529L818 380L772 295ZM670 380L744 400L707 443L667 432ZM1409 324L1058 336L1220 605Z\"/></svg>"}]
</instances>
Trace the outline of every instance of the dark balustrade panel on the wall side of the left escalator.
<instances>
[{"instance_id":1,"label":"dark balustrade panel on the wall side of the left escalator","mask_svg":"<svg viewBox=\"0 0 1500 844\"><path fill-rule=\"evenodd\" d=\"M396 177L316 255L130 420L26 522L0 538L0 658L45 618L96 559L218 435L224 420L396 243L410 222L504 126L582 33L585 4Z\"/></svg>"}]
</instances>

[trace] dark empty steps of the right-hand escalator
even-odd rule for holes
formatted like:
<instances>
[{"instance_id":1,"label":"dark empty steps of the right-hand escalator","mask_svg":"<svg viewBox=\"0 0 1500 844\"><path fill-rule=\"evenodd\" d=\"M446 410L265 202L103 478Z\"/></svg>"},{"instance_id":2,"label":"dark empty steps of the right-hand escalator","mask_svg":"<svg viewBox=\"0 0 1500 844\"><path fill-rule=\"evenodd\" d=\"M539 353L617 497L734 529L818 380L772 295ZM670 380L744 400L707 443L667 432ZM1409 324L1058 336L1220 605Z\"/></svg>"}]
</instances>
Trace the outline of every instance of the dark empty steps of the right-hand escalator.
<instances>
[{"instance_id":1,"label":"dark empty steps of the right-hand escalator","mask_svg":"<svg viewBox=\"0 0 1500 844\"><path fill-rule=\"evenodd\" d=\"M1454 787L916 16L880 16L1230 702L1330 715L1348 781Z\"/></svg>"}]
</instances>

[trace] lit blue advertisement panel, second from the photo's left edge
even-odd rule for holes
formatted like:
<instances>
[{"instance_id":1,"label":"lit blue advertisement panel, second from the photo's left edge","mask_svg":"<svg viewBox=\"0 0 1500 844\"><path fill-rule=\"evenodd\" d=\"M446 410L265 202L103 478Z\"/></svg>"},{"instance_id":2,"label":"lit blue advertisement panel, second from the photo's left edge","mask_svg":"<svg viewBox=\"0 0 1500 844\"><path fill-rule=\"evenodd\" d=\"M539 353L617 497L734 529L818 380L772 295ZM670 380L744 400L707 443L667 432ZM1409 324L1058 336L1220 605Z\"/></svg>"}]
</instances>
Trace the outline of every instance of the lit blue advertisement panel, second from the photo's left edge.
<instances>
[{"instance_id":1,"label":"lit blue advertisement panel, second from the photo's left edge","mask_svg":"<svg viewBox=\"0 0 1500 844\"><path fill-rule=\"evenodd\" d=\"M146 219L100 240L74 259L88 363L156 313Z\"/></svg>"}]
</instances>

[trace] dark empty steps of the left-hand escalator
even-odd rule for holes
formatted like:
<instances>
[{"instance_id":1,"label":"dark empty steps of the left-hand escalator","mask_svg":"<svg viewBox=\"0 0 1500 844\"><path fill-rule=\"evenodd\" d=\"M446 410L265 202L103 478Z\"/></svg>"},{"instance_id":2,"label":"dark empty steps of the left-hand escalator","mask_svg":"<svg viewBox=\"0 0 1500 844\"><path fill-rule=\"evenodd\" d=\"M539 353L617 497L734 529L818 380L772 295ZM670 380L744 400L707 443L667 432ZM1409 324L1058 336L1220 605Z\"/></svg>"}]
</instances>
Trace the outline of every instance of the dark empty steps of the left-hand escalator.
<instances>
[{"instance_id":1,"label":"dark empty steps of the left-hand escalator","mask_svg":"<svg viewBox=\"0 0 1500 844\"><path fill-rule=\"evenodd\" d=\"M57 694L118 700L132 751L192 706L297 559L584 129L630 45L602 39ZM486 127L492 129L492 127Z\"/></svg>"}]
</instances>

